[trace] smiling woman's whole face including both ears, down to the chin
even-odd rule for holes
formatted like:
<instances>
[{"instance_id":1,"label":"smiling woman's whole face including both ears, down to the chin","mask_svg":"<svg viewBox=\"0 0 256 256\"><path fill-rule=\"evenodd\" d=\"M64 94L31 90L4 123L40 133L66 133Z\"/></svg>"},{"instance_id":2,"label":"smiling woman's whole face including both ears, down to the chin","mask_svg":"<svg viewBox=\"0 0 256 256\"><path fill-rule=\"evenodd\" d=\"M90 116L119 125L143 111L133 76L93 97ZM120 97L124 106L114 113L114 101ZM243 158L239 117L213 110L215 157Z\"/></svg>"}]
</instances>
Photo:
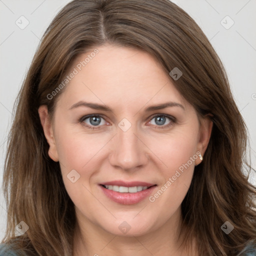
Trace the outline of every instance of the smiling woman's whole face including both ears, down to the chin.
<instances>
[{"instance_id":1,"label":"smiling woman's whole face including both ears, down to the chin","mask_svg":"<svg viewBox=\"0 0 256 256\"><path fill-rule=\"evenodd\" d=\"M212 123L201 119L199 130L195 109L148 53L97 50L73 61L51 121L39 108L49 156L79 223L115 235L174 227Z\"/></svg>"}]
</instances>

